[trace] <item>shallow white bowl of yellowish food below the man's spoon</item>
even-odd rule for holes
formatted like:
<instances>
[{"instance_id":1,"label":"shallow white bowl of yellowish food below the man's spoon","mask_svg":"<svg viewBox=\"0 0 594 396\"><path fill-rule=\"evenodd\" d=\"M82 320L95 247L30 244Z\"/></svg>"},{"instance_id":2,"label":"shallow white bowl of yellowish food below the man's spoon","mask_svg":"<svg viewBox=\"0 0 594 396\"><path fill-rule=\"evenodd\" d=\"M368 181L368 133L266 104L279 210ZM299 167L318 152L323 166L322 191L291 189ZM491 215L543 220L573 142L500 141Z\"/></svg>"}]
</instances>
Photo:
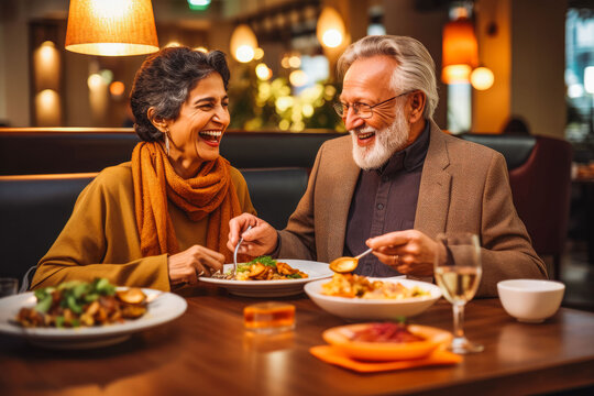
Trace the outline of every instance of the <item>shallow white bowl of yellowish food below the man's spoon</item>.
<instances>
[{"instance_id":1,"label":"shallow white bowl of yellowish food below the man's spoon","mask_svg":"<svg viewBox=\"0 0 594 396\"><path fill-rule=\"evenodd\" d=\"M419 315L441 297L440 288L427 282L351 274L310 282L305 292L323 310L358 321Z\"/></svg>"}]
</instances>

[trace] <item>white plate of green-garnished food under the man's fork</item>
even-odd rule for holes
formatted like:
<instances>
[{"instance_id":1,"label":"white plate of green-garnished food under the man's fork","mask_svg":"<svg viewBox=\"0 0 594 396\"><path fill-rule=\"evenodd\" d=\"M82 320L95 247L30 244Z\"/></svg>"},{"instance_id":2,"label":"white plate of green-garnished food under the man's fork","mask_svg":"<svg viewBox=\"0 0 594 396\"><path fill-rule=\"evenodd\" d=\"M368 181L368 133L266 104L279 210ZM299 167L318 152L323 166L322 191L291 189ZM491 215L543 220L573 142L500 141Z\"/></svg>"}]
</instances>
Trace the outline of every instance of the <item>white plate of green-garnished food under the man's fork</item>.
<instances>
[{"instance_id":1,"label":"white plate of green-garnished food under the man's fork","mask_svg":"<svg viewBox=\"0 0 594 396\"><path fill-rule=\"evenodd\" d=\"M223 277L200 277L200 282L227 288L237 296L283 297L304 292L308 282L332 276L328 263L307 260L271 258L261 256L238 264L238 274L232 277L233 264L223 266Z\"/></svg>"}]
</instances>

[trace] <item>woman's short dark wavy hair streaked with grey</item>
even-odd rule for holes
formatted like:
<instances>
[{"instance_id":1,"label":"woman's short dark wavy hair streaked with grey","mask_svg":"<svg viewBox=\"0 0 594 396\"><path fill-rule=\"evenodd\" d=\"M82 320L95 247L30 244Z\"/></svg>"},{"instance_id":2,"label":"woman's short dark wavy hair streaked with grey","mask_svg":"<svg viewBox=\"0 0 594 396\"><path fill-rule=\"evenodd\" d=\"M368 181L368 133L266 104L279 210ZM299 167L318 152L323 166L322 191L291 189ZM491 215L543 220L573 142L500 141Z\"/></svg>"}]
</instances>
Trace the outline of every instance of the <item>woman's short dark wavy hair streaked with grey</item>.
<instances>
[{"instance_id":1,"label":"woman's short dark wavy hair streaked with grey","mask_svg":"<svg viewBox=\"0 0 594 396\"><path fill-rule=\"evenodd\" d=\"M213 72L221 75L227 90L229 67L220 51L205 54L188 47L169 47L148 56L136 72L130 92L139 136L147 142L160 140L161 131L146 116L148 108L155 109L155 117L175 120L189 92Z\"/></svg>"}]
</instances>

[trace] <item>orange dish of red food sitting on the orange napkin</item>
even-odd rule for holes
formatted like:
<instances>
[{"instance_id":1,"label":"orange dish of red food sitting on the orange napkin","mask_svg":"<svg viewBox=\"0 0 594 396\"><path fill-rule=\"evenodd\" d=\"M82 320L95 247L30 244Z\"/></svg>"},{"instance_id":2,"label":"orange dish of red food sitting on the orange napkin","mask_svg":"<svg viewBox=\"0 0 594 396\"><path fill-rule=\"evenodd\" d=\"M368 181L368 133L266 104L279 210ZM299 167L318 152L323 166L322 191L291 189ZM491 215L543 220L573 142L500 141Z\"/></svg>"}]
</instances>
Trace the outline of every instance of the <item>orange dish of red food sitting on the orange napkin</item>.
<instances>
[{"instance_id":1,"label":"orange dish of red food sitting on the orange napkin","mask_svg":"<svg viewBox=\"0 0 594 396\"><path fill-rule=\"evenodd\" d=\"M322 338L352 359L382 362L427 358L448 344L452 333L428 326L373 322L331 328Z\"/></svg>"}]
</instances>

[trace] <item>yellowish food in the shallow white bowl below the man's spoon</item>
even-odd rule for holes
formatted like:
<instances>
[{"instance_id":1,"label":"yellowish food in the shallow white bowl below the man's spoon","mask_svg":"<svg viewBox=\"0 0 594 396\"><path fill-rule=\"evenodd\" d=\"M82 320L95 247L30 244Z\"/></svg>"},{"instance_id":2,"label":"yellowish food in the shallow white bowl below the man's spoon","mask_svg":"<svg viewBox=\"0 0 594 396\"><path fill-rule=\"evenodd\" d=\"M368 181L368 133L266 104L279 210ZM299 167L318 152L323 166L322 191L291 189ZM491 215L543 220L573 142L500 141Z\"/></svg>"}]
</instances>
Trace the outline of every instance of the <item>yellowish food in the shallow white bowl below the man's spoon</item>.
<instances>
[{"instance_id":1,"label":"yellowish food in the shallow white bowl below the man's spoon","mask_svg":"<svg viewBox=\"0 0 594 396\"><path fill-rule=\"evenodd\" d=\"M356 274L334 274L332 279L323 284L321 293L327 296L365 298L365 299L406 299L413 297L430 297L428 290L419 286L406 287L400 283L370 280Z\"/></svg>"}]
</instances>

